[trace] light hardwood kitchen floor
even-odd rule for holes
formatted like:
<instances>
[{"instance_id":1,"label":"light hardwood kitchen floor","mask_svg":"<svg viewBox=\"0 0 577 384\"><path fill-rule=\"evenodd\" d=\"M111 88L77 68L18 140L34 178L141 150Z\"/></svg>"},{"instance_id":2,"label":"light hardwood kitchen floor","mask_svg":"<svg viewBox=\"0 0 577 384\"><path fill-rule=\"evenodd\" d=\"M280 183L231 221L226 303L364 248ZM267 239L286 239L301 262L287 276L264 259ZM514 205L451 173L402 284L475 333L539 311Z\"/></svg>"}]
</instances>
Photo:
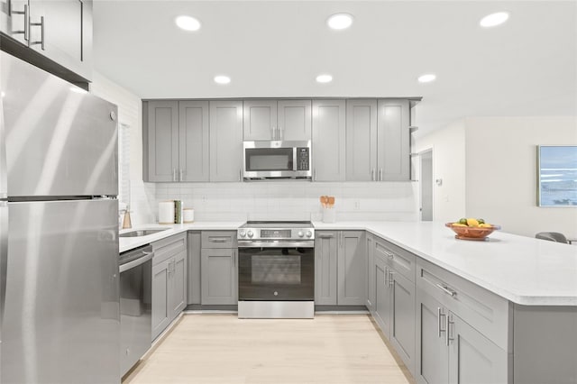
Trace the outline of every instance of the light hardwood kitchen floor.
<instances>
[{"instance_id":1,"label":"light hardwood kitchen floor","mask_svg":"<svg viewBox=\"0 0 577 384\"><path fill-rule=\"evenodd\" d=\"M413 383L369 315L183 315L123 383Z\"/></svg>"}]
</instances>

